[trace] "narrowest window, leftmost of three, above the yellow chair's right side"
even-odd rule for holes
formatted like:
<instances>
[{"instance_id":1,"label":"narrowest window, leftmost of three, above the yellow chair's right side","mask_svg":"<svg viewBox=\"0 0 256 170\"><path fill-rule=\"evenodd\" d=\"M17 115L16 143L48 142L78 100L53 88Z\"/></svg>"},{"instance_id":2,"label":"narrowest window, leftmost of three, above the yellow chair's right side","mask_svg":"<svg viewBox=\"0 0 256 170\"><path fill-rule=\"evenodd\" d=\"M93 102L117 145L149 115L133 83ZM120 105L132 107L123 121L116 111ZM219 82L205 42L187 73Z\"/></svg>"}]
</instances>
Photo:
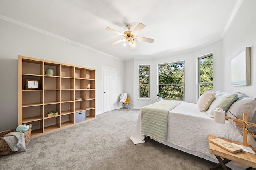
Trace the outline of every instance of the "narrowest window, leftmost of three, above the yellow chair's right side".
<instances>
[{"instance_id":1,"label":"narrowest window, leftmost of three, above the yellow chair's right side","mask_svg":"<svg viewBox=\"0 0 256 170\"><path fill-rule=\"evenodd\" d=\"M149 98L149 66L139 66L139 98Z\"/></svg>"}]
</instances>

